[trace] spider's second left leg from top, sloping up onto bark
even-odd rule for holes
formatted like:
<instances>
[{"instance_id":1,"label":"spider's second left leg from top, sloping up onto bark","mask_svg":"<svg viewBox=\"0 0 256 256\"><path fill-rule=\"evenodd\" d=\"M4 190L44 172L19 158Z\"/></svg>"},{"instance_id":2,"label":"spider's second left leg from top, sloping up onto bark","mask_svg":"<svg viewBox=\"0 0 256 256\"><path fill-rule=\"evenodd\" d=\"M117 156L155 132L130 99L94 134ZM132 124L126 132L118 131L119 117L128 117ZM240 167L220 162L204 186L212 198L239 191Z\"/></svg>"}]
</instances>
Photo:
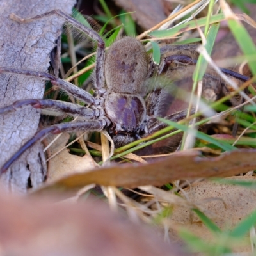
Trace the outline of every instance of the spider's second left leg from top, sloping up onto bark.
<instances>
[{"instance_id":1,"label":"spider's second left leg from top, sloping up onto bark","mask_svg":"<svg viewBox=\"0 0 256 256\"><path fill-rule=\"evenodd\" d=\"M52 84L72 94L77 99L81 99L83 100L83 102L86 102L88 104L95 104L95 99L90 93L84 91L83 89L77 86L74 86L74 84L69 83L68 81L54 77L49 73L0 67L0 74L3 72L12 73L12 74L22 74L29 77L37 77L38 79L42 79L42 80L49 80L51 81Z\"/></svg>"}]
</instances>

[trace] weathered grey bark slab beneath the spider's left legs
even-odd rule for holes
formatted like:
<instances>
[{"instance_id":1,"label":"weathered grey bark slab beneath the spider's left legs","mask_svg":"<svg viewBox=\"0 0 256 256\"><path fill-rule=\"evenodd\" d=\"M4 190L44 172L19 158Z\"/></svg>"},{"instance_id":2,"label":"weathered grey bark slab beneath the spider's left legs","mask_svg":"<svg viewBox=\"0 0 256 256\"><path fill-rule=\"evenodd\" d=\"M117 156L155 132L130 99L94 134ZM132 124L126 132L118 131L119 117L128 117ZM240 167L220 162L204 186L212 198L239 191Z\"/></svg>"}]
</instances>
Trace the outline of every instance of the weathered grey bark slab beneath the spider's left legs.
<instances>
[{"instance_id":1,"label":"weathered grey bark slab beneath the spider's left legs","mask_svg":"<svg viewBox=\"0 0 256 256\"><path fill-rule=\"evenodd\" d=\"M63 20L44 17L27 24L9 18L10 13L26 18L50 10L71 13L75 0L0 1L0 66L47 72L49 54L61 35ZM0 108L21 99L42 99L45 82L13 74L0 74ZM40 111L31 107L0 116L0 166L38 130ZM12 192L26 193L45 179L46 164L42 145L25 152L6 173L1 186Z\"/></svg>"}]
</instances>

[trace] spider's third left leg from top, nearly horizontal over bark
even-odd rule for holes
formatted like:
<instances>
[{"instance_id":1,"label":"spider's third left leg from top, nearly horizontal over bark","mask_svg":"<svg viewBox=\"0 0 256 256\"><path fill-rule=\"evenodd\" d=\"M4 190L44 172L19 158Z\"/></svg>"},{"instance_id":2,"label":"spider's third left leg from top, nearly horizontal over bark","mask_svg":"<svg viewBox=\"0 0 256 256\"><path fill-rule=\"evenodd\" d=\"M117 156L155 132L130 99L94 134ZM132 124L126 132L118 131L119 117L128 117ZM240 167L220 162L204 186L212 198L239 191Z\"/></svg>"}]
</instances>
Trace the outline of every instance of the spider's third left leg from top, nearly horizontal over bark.
<instances>
[{"instance_id":1,"label":"spider's third left leg from top, nearly horizontal over bark","mask_svg":"<svg viewBox=\"0 0 256 256\"><path fill-rule=\"evenodd\" d=\"M99 110L95 109L93 111L90 108L80 106L78 104L70 102L62 102L60 100L49 100L49 99L27 99L27 100L17 100L10 106L0 108L0 115L8 113L10 111L16 111L24 106L32 106L38 109L51 109L55 111L60 111L63 113L68 113L72 116L83 116L86 119L92 119L99 116Z\"/></svg>"}]
</instances>

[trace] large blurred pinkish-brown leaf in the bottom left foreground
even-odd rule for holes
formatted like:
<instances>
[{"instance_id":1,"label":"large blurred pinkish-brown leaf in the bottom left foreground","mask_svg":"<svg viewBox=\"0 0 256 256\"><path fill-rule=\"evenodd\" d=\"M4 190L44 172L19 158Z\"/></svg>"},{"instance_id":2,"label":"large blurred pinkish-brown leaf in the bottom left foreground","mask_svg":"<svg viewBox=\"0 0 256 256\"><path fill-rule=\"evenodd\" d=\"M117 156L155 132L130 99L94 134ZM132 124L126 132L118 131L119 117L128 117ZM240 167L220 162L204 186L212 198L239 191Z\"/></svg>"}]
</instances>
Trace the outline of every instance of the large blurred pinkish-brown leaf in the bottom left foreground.
<instances>
[{"instance_id":1,"label":"large blurred pinkish-brown leaf in the bottom left foreground","mask_svg":"<svg viewBox=\"0 0 256 256\"><path fill-rule=\"evenodd\" d=\"M0 193L1 255L185 255L100 202L52 204Z\"/></svg>"}]
</instances>

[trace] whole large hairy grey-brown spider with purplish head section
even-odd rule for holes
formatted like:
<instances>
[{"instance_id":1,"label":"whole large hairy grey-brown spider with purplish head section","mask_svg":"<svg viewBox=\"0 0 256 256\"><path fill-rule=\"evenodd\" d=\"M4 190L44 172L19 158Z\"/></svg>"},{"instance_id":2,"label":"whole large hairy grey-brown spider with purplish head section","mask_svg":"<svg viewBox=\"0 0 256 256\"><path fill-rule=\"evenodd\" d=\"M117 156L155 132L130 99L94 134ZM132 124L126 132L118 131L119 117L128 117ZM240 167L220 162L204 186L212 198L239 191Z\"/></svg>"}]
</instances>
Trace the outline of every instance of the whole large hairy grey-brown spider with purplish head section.
<instances>
[{"instance_id":1,"label":"whole large hairy grey-brown spider with purplish head section","mask_svg":"<svg viewBox=\"0 0 256 256\"><path fill-rule=\"evenodd\" d=\"M122 38L111 45L105 58L105 45L102 38L95 31L83 26L83 24L60 10L53 10L29 19L21 19L12 15L12 19L17 22L31 22L48 15L60 15L66 22L97 41L95 96L51 74L0 67L0 73L7 72L49 80L52 84L87 104L87 106L81 106L58 100L26 99L1 108L0 114L4 114L30 105L33 108L53 109L71 116L78 116L78 119L76 122L56 124L36 132L31 140L25 143L15 155L1 166L0 173L6 172L13 161L34 145L36 141L45 138L47 134L101 131L104 129L109 132L115 147L120 147L163 129L167 124L157 120L157 116L161 116L160 110L166 97L166 88L154 84L154 86L150 86L152 89L148 90L147 81L156 74L157 76L164 74L164 76L170 77L173 77L173 74L182 74L184 73L184 67L193 66L196 63L197 54L195 49L197 45L166 45L161 48L162 58L158 67L148 58L143 45L131 37ZM222 70L228 76L238 79L240 83L248 80L248 77L231 70ZM211 82L214 82L213 87L211 83L207 82L209 77ZM212 99L213 97L213 100L215 100L221 93L227 93L225 83L220 77L212 75L212 72L211 76L205 74L203 82L205 97L207 98ZM183 119L186 113L187 111L184 110L165 116L165 118L166 120L177 121Z\"/></svg>"}]
</instances>

